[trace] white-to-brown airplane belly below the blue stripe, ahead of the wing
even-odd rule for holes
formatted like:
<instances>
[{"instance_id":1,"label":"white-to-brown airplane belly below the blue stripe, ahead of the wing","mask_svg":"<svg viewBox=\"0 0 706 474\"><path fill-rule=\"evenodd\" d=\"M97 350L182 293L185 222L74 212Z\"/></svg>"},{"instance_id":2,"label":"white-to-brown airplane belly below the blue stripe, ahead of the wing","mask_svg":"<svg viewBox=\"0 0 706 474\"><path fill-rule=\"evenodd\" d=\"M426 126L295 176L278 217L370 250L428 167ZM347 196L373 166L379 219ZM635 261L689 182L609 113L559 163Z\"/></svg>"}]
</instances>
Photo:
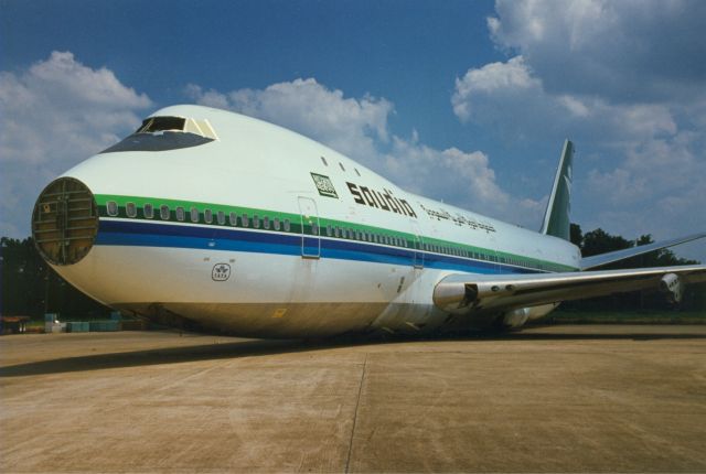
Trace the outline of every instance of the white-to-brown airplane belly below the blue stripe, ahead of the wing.
<instances>
[{"instance_id":1,"label":"white-to-brown airplane belly below the blue stripe, ahead of the wing","mask_svg":"<svg viewBox=\"0 0 706 474\"><path fill-rule=\"evenodd\" d=\"M172 314L247 336L300 337L442 322L421 294L435 271L223 250L96 246L56 268L72 284L121 310ZM424 276L424 278L421 277Z\"/></svg>"}]
</instances>

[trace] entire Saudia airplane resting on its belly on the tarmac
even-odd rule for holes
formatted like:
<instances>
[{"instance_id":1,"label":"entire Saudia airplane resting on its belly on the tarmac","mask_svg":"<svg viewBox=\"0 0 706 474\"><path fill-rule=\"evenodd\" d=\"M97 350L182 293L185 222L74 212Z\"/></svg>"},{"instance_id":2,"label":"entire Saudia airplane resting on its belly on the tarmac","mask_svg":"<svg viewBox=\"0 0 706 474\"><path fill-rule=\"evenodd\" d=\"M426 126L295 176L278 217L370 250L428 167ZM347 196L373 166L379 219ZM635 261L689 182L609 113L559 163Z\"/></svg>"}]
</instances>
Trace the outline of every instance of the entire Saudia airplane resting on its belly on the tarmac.
<instances>
[{"instance_id":1,"label":"entire Saudia airplane resting on its belly on the tarmac","mask_svg":"<svg viewBox=\"0 0 706 474\"><path fill-rule=\"evenodd\" d=\"M581 258L566 141L539 233L408 193L298 133L174 106L40 194L32 234L122 312L257 337L520 327L561 301L655 289L706 266L595 270L697 234Z\"/></svg>"}]
</instances>

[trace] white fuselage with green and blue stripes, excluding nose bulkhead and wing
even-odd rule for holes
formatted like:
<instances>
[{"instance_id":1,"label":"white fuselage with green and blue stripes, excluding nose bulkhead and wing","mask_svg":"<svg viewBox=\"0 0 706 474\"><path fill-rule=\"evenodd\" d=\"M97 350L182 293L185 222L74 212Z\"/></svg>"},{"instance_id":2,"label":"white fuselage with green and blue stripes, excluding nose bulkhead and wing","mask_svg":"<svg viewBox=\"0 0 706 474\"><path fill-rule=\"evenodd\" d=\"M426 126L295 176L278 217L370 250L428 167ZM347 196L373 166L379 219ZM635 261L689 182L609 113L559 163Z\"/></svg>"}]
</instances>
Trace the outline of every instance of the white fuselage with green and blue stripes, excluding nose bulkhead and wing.
<instances>
[{"instance_id":1,"label":"white fuselage with green and blue stripes, excluding nose bulkhead and wing","mask_svg":"<svg viewBox=\"0 0 706 474\"><path fill-rule=\"evenodd\" d=\"M450 273L578 267L565 240L407 193L280 127L196 106L154 116L207 119L217 140L64 174L101 214L85 258L54 269L113 308L253 336L425 332L449 320L431 295Z\"/></svg>"}]
</instances>

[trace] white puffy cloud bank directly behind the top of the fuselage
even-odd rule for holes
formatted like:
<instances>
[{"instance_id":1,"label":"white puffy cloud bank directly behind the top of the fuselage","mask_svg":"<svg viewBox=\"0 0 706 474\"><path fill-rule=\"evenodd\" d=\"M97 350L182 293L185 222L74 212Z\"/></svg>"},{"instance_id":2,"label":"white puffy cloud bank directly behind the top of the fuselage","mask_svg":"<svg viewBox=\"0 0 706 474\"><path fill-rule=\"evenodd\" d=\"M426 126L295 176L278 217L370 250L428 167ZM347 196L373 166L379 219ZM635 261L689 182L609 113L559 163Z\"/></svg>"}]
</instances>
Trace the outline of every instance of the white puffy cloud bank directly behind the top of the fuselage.
<instances>
[{"instance_id":1,"label":"white puffy cloud bank directly behind the top of the fuselage","mask_svg":"<svg viewBox=\"0 0 706 474\"><path fill-rule=\"evenodd\" d=\"M516 198L498 184L489 157L480 151L438 150L389 131L394 106L384 98L345 97L313 78L227 93L190 85L199 104L226 108L296 130L389 177L402 187L494 217L534 226L542 203ZM432 176L432 177L430 177Z\"/></svg>"}]
</instances>

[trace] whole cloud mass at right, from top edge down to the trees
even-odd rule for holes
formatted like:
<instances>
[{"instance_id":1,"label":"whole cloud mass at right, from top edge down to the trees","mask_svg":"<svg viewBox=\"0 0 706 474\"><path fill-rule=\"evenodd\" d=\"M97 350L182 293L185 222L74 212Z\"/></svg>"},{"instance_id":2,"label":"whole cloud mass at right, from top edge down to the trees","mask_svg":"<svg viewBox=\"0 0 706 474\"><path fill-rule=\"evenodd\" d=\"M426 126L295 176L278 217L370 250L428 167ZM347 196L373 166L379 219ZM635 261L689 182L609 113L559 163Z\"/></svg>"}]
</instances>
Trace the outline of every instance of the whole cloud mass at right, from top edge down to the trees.
<instances>
[{"instance_id":1,"label":"whole cloud mass at right, from top edge down to the trees","mask_svg":"<svg viewBox=\"0 0 706 474\"><path fill-rule=\"evenodd\" d=\"M575 177L587 227L700 230L706 3L498 0L495 10L490 34L511 58L457 79L457 117L524 146L573 138L588 168Z\"/></svg>"}]
</instances>

